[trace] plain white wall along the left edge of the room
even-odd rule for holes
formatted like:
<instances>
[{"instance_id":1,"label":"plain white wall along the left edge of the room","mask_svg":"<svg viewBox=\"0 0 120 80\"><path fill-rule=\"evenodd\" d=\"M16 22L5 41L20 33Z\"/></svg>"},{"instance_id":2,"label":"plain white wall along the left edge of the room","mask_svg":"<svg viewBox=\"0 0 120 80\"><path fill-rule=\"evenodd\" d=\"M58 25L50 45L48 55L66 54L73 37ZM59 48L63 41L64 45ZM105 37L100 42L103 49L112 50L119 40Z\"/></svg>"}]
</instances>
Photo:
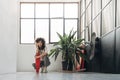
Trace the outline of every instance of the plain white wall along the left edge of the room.
<instances>
[{"instance_id":1,"label":"plain white wall along the left edge of the room","mask_svg":"<svg viewBox=\"0 0 120 80\"><path fill-rule=\"evenodd\" d=\"M0 74L16 72L17 1L0 1Z\"/></svg>"}]
</instances>

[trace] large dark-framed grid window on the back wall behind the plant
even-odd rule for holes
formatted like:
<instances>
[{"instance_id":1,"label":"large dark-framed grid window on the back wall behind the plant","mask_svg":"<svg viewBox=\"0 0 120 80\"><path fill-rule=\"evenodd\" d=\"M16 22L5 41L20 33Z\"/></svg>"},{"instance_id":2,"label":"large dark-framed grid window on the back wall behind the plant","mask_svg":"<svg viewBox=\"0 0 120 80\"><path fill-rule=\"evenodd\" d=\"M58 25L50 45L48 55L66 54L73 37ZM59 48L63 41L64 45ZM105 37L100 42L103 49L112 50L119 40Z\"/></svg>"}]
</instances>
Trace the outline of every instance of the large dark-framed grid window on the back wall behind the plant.
<instances>
[{"instance_id":1,"label":"large dark-framed grid window on the back wall behind the plant","mask_svg":"<svg viewBox=\"0 0 120 80\"><path fill-rule=\"evenodd\" d=\"M21 3L20 6L20 43L34 43L37 37L43 37L46 43L57 42L56 32L64 35L71 29L77 31L78 3Z\"/></svg>"}]
</instances>

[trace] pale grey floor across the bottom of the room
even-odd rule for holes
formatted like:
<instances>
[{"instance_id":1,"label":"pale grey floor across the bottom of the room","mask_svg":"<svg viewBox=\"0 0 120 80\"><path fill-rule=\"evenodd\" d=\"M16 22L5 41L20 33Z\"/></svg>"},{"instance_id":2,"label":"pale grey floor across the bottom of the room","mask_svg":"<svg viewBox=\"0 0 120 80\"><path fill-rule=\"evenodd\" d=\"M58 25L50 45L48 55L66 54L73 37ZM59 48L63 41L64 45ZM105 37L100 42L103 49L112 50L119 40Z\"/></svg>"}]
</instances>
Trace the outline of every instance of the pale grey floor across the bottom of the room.
<instances>
[{"instance_id":1,"label":"pale grey floor across the bottom of the room","mask_svg":"<svg viewBox=\"0 0 120 80\"><path fill-rule=\"evenodd\" d=\"M36 75L34 72L1 74L0 80L120 80L120 74L49 72Z\"/></svg>"}]
</instances>

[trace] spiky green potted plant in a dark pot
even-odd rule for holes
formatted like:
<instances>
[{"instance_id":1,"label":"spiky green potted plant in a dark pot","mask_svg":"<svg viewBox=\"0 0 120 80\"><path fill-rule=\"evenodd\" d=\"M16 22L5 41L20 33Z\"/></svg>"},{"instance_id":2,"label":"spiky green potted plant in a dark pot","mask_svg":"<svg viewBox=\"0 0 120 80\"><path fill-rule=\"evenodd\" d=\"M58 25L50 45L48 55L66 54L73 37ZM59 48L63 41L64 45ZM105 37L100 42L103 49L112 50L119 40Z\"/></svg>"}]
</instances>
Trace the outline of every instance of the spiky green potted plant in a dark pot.
<instances>
[{"instance_id":1,"label":"spiky green potted plant in a dark pot","mask_svg":"<svg viewBox=\"0 0 120 80\"><path fill-rule=\"evenodd\" d=\"M65 34L63 36L57 33L60 40L54 44L55 48L50 50L49 56L54 56L55 60L57 59L59 54L62 54L63 70L72 71L75 64L75 59L76 61L78 61L78 63L80 63L78 57L74 58L75 56L81 56L85 58L84 54L76 55L76 49L77 47L79 47L84 39L76 39L75 34L76 31L74 32L73 30L71 30L68 35Z\"/></svg>"}]
</instances>

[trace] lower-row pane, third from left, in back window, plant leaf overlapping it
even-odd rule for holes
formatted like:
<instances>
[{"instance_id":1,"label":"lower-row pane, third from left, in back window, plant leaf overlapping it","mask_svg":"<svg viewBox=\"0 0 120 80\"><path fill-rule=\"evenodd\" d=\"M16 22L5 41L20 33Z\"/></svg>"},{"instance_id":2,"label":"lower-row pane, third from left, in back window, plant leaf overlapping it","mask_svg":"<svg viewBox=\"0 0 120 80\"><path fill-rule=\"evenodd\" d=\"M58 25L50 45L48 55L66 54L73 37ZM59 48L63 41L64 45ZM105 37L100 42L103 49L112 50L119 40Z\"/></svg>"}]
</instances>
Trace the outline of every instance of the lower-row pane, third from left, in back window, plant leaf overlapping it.
<instances>
[{"instance_id":1,"label":"lower-row pane, third from left, in back window, plant leaf overlapping it","mask_svg":"<svg viewBox=\"0 0 120 80\"><path fill-rule=\"evenodd\" d=\"M63 35L63 19L51 19L50 42L57 42L59 40L56 32Z\"/></svg>"}]
</instances>

